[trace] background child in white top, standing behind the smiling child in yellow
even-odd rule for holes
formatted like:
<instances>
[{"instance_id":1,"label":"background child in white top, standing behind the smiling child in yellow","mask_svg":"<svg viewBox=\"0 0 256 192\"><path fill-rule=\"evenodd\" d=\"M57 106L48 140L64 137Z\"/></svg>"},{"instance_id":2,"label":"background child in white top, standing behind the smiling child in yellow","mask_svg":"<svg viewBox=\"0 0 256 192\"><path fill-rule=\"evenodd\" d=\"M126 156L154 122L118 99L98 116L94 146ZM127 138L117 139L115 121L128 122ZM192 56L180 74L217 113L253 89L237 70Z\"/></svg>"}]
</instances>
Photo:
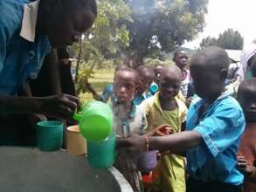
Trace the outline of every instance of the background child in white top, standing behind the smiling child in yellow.
<instances>
[{"instance_id":1,"label":"background child in white top, standing behind the smiling child in yellow","mask_svg":"<svg viewBox=\"0 0 256 192\"><path fill-rule=\"evenodd\" d=\"M183 72L181 92L183 93L183 97L185 99L187 99L188 87L190 84L190 71L186 69L189 64L188 59L189 58L186 51L176 50L174 52L173 61Z\"/></svg>"}]
</instances>

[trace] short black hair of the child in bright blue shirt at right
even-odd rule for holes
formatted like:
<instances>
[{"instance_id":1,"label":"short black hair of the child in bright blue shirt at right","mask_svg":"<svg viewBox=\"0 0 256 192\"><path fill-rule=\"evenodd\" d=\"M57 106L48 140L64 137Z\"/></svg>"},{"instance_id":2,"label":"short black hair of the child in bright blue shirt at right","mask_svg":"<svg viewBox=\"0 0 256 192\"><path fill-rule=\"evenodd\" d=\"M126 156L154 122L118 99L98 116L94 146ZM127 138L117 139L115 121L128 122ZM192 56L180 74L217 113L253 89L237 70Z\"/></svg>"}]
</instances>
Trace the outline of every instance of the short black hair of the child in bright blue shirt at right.
<instances>
[{"instance_id":1,"label":"short black hair of the child in bright blue shirt at right","mask_svg":"<svg viewBox=\"0 0 256 192\"><path fill-rule=\"evenodd\" d=\"M201 51L197 51L197 53L192 56L190 65L209 65L213 66L213 68L218 71L223 69L228 70L230 59L224 49L218 46L210 46Z\"/></svg>"}]
</instances>

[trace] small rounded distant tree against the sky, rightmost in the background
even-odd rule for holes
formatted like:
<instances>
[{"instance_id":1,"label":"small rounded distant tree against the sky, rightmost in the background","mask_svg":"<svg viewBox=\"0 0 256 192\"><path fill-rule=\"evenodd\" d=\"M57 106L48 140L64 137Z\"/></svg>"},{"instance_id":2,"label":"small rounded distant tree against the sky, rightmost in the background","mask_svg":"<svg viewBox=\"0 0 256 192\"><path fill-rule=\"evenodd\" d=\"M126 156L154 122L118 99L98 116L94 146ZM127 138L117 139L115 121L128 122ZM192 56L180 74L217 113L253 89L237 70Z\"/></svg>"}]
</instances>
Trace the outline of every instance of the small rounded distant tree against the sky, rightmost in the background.
<instances>
[{"instance_id":1,"label":"small rounded distant tree against the sky, rightmost in the background","mask_svg":"<svg viewBox=\"0 0 256 192\"><path fill-rule=\"evenodd\" d=\"M239 31L228 29L218 36L218 46L228 50L242 50L244 38Z\"/></svg>"}]
</instances>

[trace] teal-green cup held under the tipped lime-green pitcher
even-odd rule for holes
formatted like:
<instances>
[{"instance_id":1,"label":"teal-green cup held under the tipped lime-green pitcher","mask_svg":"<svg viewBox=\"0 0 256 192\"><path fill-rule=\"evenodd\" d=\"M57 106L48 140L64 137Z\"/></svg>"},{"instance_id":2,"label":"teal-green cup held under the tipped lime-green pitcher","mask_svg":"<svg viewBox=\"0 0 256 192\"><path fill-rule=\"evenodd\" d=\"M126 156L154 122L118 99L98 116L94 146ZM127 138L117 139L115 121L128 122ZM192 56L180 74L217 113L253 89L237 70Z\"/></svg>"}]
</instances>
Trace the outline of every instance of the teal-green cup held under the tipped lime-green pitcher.
<instances>
[{"instance_id":1,"label":"teal-green cup held under the tipped lime-green pitcher","mask_svg":"<svg viewBox=\"0 0 256 192\"><path fill-rule=\"evenodd\" d=\"M87 161L93 168L110 168L114 164L115 134L110 134L106 140L87 141Z\"/></svg>"}]
</instances>

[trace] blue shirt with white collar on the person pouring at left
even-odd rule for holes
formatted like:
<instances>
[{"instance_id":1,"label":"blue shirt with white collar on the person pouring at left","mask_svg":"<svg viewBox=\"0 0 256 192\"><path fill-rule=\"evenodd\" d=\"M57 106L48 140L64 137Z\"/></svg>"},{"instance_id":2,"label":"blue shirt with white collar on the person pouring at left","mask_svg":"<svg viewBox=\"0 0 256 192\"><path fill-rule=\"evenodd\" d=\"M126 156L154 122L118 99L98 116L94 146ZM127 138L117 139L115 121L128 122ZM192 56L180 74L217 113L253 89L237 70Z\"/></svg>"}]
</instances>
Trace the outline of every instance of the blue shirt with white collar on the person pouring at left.
<instances>
[{"instance_id":1,"label":"blue shirt with white collar on the person pouring at left","mask_svg":"<svg viewBox=\"0 0 256 192\"><path fill-rule=\"evenodd\" d=\"M15 96L25 79L35 79L51 45L35 38L38 1L0 0L0 94Z\"/></svg>"}]
</instances>

